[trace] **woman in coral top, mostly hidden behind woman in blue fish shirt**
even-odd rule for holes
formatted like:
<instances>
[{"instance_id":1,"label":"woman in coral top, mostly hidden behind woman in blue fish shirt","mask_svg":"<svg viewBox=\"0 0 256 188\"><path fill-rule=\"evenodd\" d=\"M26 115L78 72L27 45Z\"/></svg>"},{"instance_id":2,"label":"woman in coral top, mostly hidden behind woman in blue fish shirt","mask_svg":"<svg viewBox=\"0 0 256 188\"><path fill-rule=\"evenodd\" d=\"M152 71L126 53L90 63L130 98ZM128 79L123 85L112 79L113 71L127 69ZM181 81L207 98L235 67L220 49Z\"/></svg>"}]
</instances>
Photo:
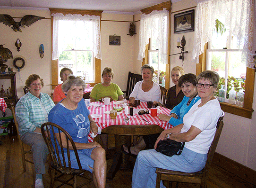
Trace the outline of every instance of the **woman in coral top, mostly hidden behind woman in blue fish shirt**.
<instances>
[{"instance_id":1,"label":"woman in coral top, mostly hidden behind woman in blue fish shirt","mask_svg":"<svg viewBox=\"0 0 256 188\"><path fill-rule=\"evenodd\" d=\"M67 80L68 75L70 75L70 74L73 74L73 71L67 67L64 67L60 70L60 80L62 81L62 83ZM62 86L62 84L60 84L54 88L53 102L55 104L60 102L62 99L66 98L66 95L63 93L61 86Z\"/></svg>"}]
</instances>

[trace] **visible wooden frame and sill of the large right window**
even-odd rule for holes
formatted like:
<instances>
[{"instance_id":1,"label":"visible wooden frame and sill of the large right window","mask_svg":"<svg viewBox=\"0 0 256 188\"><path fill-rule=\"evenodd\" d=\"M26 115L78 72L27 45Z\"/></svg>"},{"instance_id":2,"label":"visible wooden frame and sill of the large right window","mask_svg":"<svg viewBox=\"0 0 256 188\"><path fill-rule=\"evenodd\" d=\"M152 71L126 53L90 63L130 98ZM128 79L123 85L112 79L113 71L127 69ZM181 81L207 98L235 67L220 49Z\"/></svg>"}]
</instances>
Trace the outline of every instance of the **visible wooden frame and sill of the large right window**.
<instances>
[{"instance_id":1,"label":"visible wooden frame and sill of the large right window","mask_svg":"<svg viewBox=\"0 0 256 188\"><path fill-rule=\"evenodd\" d=\"M196 64L196 76L200 74L200 72L206 70L206 50L208 49L208 43L204 46L204 53L199 55L199 63ZM246 85L245 85L245 99L244 99L244 107L239 107L233 104L229 104L227 102L220 102L221 108L224 112L228 112L230 114L234 114L237 116L252 118L252 109L253 104L253 95L254 95L254 80L255 71L254 69L246 68Z\"/></svg>"}]
</instances>

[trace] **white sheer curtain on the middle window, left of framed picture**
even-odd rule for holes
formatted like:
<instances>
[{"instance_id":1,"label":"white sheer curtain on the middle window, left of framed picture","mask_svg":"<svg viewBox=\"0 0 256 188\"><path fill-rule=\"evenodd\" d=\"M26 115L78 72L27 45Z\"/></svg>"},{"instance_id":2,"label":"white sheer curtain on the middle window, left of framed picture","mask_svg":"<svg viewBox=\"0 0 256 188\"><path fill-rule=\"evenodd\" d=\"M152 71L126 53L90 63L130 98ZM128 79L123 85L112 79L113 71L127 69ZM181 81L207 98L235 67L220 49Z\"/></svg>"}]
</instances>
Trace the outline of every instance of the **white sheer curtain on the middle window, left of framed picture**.
<instances>
[{"instance_id":1,"label":"white sheer curtain on the middle window, left of framed picture","mask_svg":"<svg viewBox=\"0 0 256 188\"><path fill-rule=\"evenodd\" d=\"M158 50L162 63L168 63L167 47L168 47L168 25L169 11L166 8L157 11L154 10L150 14L142 14L140 17L139 29L139 54L138 60L143 61L145 57L145 46L149 39L153 36L158 44Z\"/></svg>"}]
</instances>

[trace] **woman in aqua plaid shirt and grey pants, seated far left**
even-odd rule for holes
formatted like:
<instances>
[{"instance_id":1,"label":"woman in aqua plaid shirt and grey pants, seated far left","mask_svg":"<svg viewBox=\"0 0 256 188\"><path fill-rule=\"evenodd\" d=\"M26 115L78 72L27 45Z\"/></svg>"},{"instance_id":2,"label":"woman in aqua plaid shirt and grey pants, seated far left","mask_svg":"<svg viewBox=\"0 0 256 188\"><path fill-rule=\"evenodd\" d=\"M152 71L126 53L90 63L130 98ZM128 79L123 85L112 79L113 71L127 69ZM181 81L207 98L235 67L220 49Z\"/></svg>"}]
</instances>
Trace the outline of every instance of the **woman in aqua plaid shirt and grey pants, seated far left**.
<instances>
[{"instance_id":1,"label":"woman in aqua plaid shirt and grey pants, seated far left","mask_svg":"<svg viewBox=\"0 0 256 188\"><path fill-rule=\"evenodd\" d=\"M21 140L31 146L35 168L35 188L43 188L42 174L48 148L43 140L41 125L48 121L48 113L55 106L48 94L41 93L43 79L36 74L26 80L29 92L17 102L15 113Z\"/></svg>"}]
</instances>

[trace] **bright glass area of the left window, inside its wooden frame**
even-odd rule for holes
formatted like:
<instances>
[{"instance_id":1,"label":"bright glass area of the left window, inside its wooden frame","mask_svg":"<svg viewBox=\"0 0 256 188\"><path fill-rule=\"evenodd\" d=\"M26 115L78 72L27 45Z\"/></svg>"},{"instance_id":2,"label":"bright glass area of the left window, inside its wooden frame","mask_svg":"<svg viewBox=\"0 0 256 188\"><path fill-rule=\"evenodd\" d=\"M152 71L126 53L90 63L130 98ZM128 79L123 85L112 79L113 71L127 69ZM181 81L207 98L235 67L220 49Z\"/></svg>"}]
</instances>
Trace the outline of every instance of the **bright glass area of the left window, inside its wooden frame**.
<instances>
[{"instance_id":1,"label":"bright glass area of the left window, inside its wooden frame","mask_svg":"<svg viewBox=\"0 0 256 188\"><path fill-rule=\"evenodd\" d=\"M85 82L95 82L94 52L92 46L88 45L93 43L93 38L88 37L93 33L92 30L88 30L89 34L85 34L88 27L92 28L92 22L85 24L83 21L78 21L74 24L72 20L59 21L59 40L63 41L61 44L63 52L59 57L59 76L60 70L68 67L75 76L81 76ZM61 83L60 78L59 83Z\"/></svg>"}]
</instances>

